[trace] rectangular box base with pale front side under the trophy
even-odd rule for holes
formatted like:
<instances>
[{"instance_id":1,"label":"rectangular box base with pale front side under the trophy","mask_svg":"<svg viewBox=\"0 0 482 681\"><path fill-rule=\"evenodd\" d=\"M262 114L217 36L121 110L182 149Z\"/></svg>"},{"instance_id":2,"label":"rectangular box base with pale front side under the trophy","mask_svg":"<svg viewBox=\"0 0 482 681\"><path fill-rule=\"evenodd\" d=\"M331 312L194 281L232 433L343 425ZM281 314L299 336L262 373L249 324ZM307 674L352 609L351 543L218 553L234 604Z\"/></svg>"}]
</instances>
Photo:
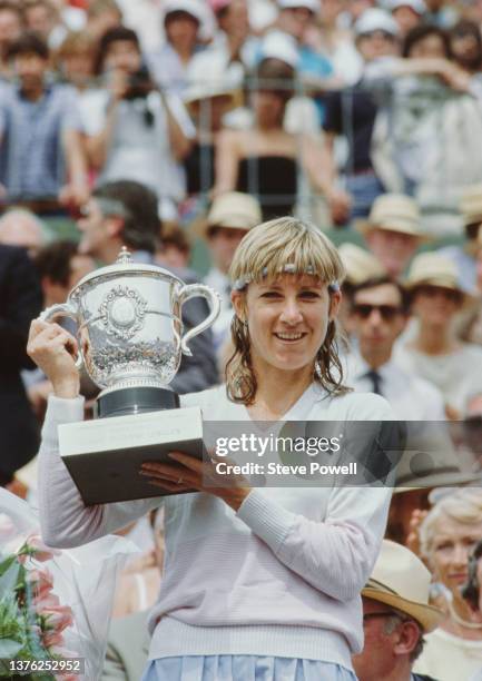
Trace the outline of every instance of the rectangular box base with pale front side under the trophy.
<instances>
[{"instance_id":1,"label":"rectangular box base with pale front side under the trophy","mask_svg":"<svg viewBox=\"0 0 482 681\"><path fill-rule=\"evenodd\" d=\"M170 495L149 484L140 466L176 465L168 456L174 451L203 461L201 412L181 407L62 424L59 450L87 506Z\"/></svg>"}]
</instances>

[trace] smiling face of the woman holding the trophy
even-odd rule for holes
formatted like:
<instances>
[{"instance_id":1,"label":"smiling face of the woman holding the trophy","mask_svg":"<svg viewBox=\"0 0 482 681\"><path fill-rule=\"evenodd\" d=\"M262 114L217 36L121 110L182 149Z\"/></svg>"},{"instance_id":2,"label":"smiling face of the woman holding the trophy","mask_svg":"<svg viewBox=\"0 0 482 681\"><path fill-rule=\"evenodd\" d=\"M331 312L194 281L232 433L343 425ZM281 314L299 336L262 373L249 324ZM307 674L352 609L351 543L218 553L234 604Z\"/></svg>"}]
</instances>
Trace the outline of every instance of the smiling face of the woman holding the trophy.
<instances>
[{"instance_id":1,"label":"smiling face of the woman holding the trophy","mask_svg":"<svg viewBox=\"0 0 482 681\"><path fill-rule=\"evenodd\" d=\"M233 304L248 323L254 365L281 371L313 367L340 298L318 277L296 274L253 282L246 292L235 292Z\"/></svg>"}]
</instances>

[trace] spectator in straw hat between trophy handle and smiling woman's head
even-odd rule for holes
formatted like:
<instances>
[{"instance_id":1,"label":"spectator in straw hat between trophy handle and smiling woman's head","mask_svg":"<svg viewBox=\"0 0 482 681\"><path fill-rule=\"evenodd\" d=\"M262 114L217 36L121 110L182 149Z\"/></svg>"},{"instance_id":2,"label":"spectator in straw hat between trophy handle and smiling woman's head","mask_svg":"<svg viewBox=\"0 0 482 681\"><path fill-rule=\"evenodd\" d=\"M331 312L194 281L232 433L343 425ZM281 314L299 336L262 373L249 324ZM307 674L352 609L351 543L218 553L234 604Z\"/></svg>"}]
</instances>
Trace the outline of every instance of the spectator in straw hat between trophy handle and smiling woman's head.
<instances>
[{"instance_id":1,"label":"spectator in straw hat between trophy handle and smiling woman's head","mask_svg":"<svg viewBox=\"0 0 482 681\"><path fill-rule=\"evenodd\" d=\"M239 241L260 221L262 209L257 199L240 191L228 191L213 201L207 219L201 225L212 259L212 268L204 282L217 290L222 298L222 312L213 326L216 347L225 340L233 316L229 266Z\"/></svg>"}]
</instances>

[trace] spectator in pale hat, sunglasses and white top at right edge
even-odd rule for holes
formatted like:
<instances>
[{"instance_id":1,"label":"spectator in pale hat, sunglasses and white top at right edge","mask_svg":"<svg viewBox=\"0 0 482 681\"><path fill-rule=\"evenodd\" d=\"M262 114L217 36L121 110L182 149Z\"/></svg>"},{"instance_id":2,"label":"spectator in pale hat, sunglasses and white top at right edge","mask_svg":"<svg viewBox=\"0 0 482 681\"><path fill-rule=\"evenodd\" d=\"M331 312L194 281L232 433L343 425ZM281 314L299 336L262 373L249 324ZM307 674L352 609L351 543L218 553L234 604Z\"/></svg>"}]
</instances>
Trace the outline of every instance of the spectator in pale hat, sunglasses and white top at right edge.
<instances>
[{"instance_id":1,"label":"spectator in pale hat, sunglasses and white top at right edge","mask_svg":"<svg viewBox=\"0 0 482 681\"><path fill-rule=\"evenodd\" d=\"M413 260L406 286L417 329L397 346L395 359L435 385L443 394L447 416L458 418L468 396L482 391L482 348L463 343L455 333L458 315L474 299L461 287L453 263L437 253L424 253Z\"/></svg>"}]
</instances>

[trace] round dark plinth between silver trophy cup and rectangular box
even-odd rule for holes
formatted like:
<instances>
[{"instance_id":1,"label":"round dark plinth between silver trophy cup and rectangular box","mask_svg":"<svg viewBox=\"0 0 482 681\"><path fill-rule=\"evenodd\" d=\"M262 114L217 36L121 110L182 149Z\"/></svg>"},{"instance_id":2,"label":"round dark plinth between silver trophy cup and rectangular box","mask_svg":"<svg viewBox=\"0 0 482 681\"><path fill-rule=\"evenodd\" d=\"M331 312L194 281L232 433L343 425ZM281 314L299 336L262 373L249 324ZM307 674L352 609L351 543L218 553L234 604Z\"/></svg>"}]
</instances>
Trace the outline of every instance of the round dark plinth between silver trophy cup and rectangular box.
<instances>
[{"instance_id":1,"label":"round dark plinth between silver trophy cup and rectangular box","mask_svg":"<svg viewBox=\"0 0 482 681\"><path fill-rule=\"evenodd\" d=\"M96 402L96 418L146 414L179 407L179 395L169 388L137 386L100 394Z\"/></svg>"}]
</instances>

